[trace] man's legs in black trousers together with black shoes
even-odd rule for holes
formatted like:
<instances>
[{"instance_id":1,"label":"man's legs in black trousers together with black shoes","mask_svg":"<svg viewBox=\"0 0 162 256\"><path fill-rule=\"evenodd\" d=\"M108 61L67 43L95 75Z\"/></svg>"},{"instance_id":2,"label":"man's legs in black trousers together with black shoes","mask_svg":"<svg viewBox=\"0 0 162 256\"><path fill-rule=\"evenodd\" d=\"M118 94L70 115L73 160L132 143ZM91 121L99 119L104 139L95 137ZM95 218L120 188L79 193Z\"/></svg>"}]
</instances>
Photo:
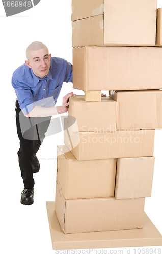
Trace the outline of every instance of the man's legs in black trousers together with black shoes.
<instances>
[{"instance_id":1,"label":"man's legs in black trousers together with black shoes","mask_svg":"<svg viewBox=\"0 0 162 256\"><path fill-rule=\"evenodd\" d=\"M25 190L22 192L21 200L23 197L23 199L25 198L24 204L32 204L32 198L34 195L34 190L32 190L34 186L33 172L38 172L39 170L37 166L39 164L39 161L35 154L37 153L45 137L44 134L48 129L51 117L33 119L34 123L37 124L32 126L31 122L31 128L28 129L25 135L22 135L20 122L23 123L24 121L25 123L27 117L21 115L21 120L19 120L20 111L21 109L19 108L19 104L16 101L16 125L18 137L20 140L20 149L18 151L19 166L21 170L21 177L23 179L25 187ZM29 202L27 202L28 198L26 198L26 195L27 197L29 196Z\"/></svg>"}]
</instances>

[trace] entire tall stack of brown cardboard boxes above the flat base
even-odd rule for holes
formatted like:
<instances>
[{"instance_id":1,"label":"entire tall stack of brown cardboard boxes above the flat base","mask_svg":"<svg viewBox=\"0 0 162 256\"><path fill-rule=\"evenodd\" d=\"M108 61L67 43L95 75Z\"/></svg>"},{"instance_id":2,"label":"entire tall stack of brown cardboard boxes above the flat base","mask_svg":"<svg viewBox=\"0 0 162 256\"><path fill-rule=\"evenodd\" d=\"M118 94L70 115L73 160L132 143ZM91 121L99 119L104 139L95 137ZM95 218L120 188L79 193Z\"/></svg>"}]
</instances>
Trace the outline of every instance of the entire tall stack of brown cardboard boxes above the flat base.
<instances>
[{"instance_id":1,"label":"entire tall stack of brown cardboard boxes above the flat base","mask_svg":"<svg viewBox=\"0 0 162 256\"><path fill-rule=\"evenodd\" d=\"M85 96L70 98L58 146L55 212L65 234L143 228L162 128L156 4L72 0L73 88Z\"/></svg>"}]
</instances>

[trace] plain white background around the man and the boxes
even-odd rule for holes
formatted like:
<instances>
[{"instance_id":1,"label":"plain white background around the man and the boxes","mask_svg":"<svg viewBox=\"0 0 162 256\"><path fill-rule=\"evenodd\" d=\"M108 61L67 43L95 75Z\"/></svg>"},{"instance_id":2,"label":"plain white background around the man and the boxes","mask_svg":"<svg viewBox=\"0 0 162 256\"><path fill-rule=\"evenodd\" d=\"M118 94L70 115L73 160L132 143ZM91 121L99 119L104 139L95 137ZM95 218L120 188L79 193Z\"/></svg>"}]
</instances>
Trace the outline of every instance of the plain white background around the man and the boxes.
<instances>
[{"instance_id":1,"label":"plain white background around the man and the boxes","mask_svg":"<svg viewBox=\"0 0 162 256\"><path fill-rule=\"evenodd\" d=\"M157 8L162 1L157 0ZM34 8L6 17L0 2L1 28L1 255L53 255L46 212L46 201L55 201L56 148L63 145L63 132L47 137L37 157L40 171L34 174L34 204L20 204L23 182L20 176L17 151L19 140L15 123L16 95L11 85L13 71L24 63L25 49L33 41L42 41L52 56L62 57L72 63L71 0L41 0ZM162 50L162 49L161 49ZM83 94L63 84L57 105L68 92ZM155 131L155 168L152 196L146 198L145 212L162 234L162 131ZM43 158L45 158L43 160ZM155 247L153 247L155 248ZM157 247L161 248L162 246Z\"/></svg>"}]
</instances>

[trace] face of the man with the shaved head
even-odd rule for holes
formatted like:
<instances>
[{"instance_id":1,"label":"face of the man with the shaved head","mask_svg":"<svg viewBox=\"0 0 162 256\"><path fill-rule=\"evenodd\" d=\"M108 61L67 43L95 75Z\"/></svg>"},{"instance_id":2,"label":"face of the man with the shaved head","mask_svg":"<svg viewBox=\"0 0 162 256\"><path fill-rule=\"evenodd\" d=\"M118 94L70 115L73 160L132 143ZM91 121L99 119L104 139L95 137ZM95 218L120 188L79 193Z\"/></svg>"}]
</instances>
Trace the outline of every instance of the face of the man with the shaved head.
<instances>
[{"instance_id":1,"label":"face of the man with the shaved head","mask_svg":"<svg viewBox=\"0 0 162 256\"><path fill-rule=\"evenodd\" d=\"M29 60L26 60L25 63L29 68L32 68L33 73L43 78L48 74L50 68L50 59L51 54L48 53L47 48L42 48L38 51L30 51Z\"/></svg>"}]
</instances>

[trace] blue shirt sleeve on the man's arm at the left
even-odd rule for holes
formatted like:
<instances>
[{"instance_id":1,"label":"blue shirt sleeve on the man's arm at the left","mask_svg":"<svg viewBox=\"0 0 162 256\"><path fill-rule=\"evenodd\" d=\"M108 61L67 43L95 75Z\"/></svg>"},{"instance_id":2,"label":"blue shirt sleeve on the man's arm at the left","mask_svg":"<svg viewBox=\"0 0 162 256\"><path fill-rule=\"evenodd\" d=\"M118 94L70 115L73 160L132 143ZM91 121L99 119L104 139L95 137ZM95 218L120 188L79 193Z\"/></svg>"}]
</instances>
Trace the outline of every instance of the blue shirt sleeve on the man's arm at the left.
<instances>
[{"instance_id":1,"label":"blue shirt sleeve on the man's arm at the left","mask_svg":"<svg viewBox=\"0 0 162 256\"><path fill-rule=\"evenodd\" d=\"M28 114L34 108L33 94L31 89L25 83L19 82L16 78L12 77L12 86L15 89L18 103L23 114Z\"/></svg>"}]
</instances>

